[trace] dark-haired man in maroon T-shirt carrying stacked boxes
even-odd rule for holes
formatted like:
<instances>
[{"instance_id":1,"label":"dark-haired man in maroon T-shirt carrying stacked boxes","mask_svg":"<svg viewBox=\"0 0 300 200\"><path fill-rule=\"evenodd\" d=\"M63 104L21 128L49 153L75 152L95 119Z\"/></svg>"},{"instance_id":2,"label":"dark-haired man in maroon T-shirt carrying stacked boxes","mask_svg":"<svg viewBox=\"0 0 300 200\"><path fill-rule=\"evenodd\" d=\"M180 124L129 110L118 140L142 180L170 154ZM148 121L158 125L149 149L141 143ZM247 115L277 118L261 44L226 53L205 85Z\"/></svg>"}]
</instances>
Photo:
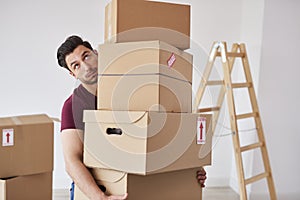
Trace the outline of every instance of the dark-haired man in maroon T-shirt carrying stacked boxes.
<instances>
[{"instance_id":1,"label":"dark-haired man in maroon T-shirt carrying stacked boxes","mask_svg":"<svg viewBox=\"0 0 300 200\"><path fill-rule=\"evenodd\" d=\"M98 53L89 42L83 41L78 36L70 36L58 48L57 60L61 67L68 69L69 73L81 82L65 101L62 109L61 141L66 171L76 186L90 199L126 199L127 194L105 195L83 164L83 110L96 109ZM206 172L203 168L200 168L196 177L201 187L204 187ZM71 200L73 193L74 183L71 188Z\"/></svg>"}]
</instances>

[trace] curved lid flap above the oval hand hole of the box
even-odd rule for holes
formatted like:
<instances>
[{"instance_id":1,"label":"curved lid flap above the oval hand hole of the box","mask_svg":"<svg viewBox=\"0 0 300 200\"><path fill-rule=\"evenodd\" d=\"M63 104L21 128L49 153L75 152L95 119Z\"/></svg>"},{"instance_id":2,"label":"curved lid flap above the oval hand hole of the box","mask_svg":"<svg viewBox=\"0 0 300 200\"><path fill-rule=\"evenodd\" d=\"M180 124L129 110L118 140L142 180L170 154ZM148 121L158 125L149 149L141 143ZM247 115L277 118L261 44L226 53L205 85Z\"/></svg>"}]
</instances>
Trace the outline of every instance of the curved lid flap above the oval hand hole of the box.
<instances>
[{"instance_id":1,"label":"curved lid flap above the oval hand hole of the box","mask_svg":"<svg viewBox=\"0 0 300 200\"><path fill-rule=\"evenodd\" d=\"M84 110L83 122L106 124L133 124L142 119L146 111L109 111L109 110Z\"/></svg>"}]
</instances>

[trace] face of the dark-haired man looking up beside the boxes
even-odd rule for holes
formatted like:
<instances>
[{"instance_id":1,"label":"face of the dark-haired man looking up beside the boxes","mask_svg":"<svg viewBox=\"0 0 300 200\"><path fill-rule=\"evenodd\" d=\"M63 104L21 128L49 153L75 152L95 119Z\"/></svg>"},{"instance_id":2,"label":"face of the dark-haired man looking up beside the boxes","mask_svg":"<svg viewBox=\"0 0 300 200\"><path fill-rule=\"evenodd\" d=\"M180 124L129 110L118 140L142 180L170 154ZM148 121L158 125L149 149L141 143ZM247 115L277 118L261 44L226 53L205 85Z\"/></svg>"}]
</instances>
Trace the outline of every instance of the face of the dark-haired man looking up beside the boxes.
<instances>
[{"instance_id":1,"label":"face of the dark-haired man looking up beside the boxes","mask_svg":"<svg viewBox=\"0 0 300 200\"><path fill-rule=\"evenodd\" d=\"M98 79L98 55L96 52L79 45L66 56L66 63L71 74L82 83L91 85Z\"/></svg>"}]
</instances>

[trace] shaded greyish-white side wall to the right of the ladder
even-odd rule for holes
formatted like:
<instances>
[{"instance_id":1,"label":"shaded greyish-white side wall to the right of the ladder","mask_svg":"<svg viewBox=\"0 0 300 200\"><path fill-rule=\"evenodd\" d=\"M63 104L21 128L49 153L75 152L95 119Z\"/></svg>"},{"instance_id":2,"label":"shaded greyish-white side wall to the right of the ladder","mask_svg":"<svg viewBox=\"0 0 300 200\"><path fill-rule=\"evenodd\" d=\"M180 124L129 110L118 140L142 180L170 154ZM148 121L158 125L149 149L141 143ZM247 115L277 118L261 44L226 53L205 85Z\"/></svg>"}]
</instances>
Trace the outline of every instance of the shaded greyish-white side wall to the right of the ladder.
<instances>
[{"instance_id":1,"label":"shaded greyish-white side wall to the right of the ladder","mask_svg":"<svg viewBox=\"0 0 300 200\"><path fill-rule=\"evenodd\" d=\"M266 0L259 103L278 199L299 199L300 1ZM259 156L254 172L260 170ZM253 199L264 199L263 182Z\"/></svg>"}]
</instances>

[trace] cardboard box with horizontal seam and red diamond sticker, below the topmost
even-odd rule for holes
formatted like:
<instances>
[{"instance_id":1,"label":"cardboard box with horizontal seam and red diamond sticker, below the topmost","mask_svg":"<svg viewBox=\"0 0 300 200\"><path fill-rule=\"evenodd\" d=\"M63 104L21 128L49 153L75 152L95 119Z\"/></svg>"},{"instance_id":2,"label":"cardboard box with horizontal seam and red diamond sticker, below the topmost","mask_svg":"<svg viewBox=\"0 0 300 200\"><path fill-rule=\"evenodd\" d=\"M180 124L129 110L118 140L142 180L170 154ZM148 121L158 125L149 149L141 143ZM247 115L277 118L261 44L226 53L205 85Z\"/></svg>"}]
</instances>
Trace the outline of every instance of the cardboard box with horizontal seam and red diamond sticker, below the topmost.
<instances>
[{"instance_id":1,"label":"cardboard box with horizontal seam and red diamond sticker, below the topmost","mask_svg":"<svg viewBox=\"0 0 300 200\"><path fill-rule=\"evenodd\" d=\"M192 55L161 41L99 46L98 110L191 112Z\"/></svg>"}]
</instances>

